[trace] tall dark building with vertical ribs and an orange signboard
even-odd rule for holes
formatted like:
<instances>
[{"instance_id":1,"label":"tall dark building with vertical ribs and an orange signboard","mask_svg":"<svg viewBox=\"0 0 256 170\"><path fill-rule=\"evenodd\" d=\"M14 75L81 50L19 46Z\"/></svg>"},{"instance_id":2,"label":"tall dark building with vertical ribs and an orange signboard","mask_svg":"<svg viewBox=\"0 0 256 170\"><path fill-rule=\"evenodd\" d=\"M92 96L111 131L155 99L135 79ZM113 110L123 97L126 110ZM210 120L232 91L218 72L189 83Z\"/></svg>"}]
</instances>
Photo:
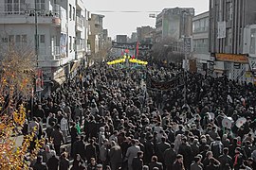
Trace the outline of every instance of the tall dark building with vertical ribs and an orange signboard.
<instances>
[{"instance_id":1,"label":"tall dark building with vertical ribs and an orange signboard","mask_svg":"<svg viewBox=\"0 0 256 170\"><path fill-rule=\"evenodd\" d=\"M210 54L216 76L252 82L244 29L255 24L255 0L210 0ZM251 29L252 30L252 29ZM246 41L247 42L247 41ZM253 45L252 45L253 46ZM255 46L255 44L254 44Z\"/></svg>"}]
</instances>

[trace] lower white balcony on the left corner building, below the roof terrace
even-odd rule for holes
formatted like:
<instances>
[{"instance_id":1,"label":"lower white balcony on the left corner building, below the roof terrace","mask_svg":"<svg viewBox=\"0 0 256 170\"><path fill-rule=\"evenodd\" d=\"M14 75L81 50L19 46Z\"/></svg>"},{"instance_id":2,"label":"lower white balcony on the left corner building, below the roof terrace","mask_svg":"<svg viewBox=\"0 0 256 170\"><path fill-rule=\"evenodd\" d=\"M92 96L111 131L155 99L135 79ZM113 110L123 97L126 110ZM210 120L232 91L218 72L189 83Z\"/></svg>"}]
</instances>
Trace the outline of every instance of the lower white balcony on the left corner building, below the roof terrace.
<instances>
[{"instance_id":1,"label":"lower white balcony on the left corner building, below the roof terrace","mask_svg":"<svg viewBox=\"0 0 256 170\"><path fill-rule=\"evenodd\" d=\"M38 64L41 67L59 67L62 64L60 46L40 47Z\"/></svg>"}]
</instances>

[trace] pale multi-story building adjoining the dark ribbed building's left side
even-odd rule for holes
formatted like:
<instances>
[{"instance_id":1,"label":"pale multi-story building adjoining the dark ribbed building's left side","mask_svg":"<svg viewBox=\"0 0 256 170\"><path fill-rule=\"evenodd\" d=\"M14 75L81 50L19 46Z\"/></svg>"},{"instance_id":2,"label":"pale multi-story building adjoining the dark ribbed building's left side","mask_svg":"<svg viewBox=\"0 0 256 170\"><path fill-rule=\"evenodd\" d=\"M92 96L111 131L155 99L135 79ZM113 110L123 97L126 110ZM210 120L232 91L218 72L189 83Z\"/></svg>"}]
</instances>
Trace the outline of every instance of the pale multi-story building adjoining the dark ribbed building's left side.
<instances>
[{"instance_id":1,"label":"pale multi-story building adjoining the dark ribbed building's left side","mask_svg":"<svg viewBox=\"0 0 256 170\"><path fill-rule=\"evenodd\" d=\"M211 75L214 58L209 52L209 11L192 18L192 54L196 59L197 72Z\"/></svg>"}]
</instances>

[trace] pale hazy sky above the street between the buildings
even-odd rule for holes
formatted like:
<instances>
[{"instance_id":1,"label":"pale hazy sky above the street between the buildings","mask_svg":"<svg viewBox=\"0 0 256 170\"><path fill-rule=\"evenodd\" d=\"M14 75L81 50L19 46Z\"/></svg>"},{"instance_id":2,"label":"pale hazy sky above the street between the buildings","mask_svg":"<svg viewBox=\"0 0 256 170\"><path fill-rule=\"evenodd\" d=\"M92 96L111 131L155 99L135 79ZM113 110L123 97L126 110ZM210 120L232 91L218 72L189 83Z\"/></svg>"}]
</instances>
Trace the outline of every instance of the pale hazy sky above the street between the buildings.
<instances>
[{"instance_id":1,"label":"pale hazy sky above the street between the buildings","mask_svg":"<svg viewBox=\"0 0 256 170\"><path fill-rule=\"evenodd\" d=\"M103 27L108 29L108 34L112 38L116 38L117 34L126 34L130 37L138 26L155 27L155 18L150 18L149 14L157 14L163 8L195 8L195 14L207 11L209 8L209 0L84 0L84 2L87 10L105 16Z\"/></svg>"}]
</instances>

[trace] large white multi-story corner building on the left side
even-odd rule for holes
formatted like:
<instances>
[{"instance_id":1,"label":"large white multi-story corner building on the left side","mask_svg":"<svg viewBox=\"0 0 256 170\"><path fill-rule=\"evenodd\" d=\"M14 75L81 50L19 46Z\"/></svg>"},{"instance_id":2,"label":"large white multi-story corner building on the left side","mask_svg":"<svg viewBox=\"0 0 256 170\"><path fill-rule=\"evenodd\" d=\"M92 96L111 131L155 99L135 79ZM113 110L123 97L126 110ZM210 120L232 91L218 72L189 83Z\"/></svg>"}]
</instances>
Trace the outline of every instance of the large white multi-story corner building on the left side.
<instances>
[{"instance_id":1,"label":"large white multi-story corner building on the left side","mask_svg":"<svg viewBox=\"0 0 256 170\"><path fill-rule=\"evenodd\" d=\"M75 74L87 47L83 0L1 1L0 15L0 43L34 49L46 83Z\"/></svg>"}]
</instances>

